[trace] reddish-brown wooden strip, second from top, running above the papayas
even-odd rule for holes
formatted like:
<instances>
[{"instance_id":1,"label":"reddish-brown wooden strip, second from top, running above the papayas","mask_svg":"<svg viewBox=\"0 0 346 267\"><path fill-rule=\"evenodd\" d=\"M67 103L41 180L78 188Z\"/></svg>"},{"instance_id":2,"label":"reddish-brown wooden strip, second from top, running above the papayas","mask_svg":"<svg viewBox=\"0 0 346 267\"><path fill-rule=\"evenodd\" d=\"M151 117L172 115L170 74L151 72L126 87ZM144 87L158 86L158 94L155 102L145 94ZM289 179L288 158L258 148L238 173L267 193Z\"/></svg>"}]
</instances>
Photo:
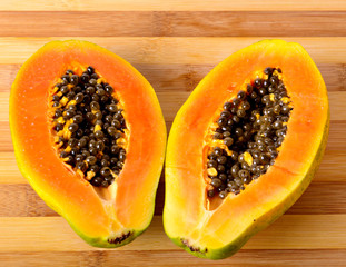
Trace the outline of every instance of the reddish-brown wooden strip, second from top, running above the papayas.
<instances>
[{"instance_id":1,"label":"reddish-brown wooden strip, second from top, running above the papayas","mask_svg":"<svg viewBox=\"0 0 346 267\"><path fill-rule=\"evenodd\" d=\"M345 37L345 11L0 11L1 37Z\"/></svg>"}]
</instances>

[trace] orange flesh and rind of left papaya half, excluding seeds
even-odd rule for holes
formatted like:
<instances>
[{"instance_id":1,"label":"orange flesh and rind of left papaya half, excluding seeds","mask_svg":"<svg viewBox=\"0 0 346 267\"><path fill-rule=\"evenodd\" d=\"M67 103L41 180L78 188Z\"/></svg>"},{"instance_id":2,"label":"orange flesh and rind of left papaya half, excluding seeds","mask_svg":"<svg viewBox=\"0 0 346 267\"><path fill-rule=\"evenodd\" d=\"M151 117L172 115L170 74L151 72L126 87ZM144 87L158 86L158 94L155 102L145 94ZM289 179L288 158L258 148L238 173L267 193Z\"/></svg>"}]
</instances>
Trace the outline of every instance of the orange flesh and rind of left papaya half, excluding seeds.
<instances>
[{"instance_id":1,"label":"orange flesh and rind of left papaya half, excluding seeds","mask_svg":"<svg viewBox=\"0 0 346 267\"><path fill-rule=\"evenodd\" d=\"M128 157L115 186L110 186L111 200L101 199L88 181L61 162L52 148L47 116L49 88L67 69L79 65L93 66L123 101L129 127ZM37 76L40 69L43 71ZM129 62L91 42L49 42L20 68L11 87L9 112L21 174L83 240L96 247L115 248L147 229L154 216L167 134L152 87ZM147 129L151 136L145 134ZM137 147L141 149L136 151ZM122 241L109 241L128 233Z\"/></svg>"}]
</instances>

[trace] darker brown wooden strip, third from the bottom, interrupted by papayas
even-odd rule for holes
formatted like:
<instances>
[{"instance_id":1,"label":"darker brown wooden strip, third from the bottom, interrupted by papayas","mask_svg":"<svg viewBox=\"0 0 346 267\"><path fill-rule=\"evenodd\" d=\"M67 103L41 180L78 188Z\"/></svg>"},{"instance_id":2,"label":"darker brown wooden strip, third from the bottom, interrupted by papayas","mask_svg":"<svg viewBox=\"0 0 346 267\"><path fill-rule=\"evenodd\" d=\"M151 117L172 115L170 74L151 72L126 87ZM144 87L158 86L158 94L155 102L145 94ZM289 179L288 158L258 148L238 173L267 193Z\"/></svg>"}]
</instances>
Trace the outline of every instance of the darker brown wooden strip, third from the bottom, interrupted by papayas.
<instances>
[{"instance_id":1,"label":"darker brown wooden strip, third from the bottom, interrupted by papayas","mask_svg":"<svg viewBox=\"0 0 346 267\"><path fill-rule=\"evenodd\" d=\"M345 171L345 170L344 170ZM344 177L345 179L346 177ZM290 215L346 214L346 181L314 180L299 200L287 211ZM0 217L58 216L28 184L0 184ZM165 184L159 184L155 215L162 215Z\"/></svg>"}]
</instances>

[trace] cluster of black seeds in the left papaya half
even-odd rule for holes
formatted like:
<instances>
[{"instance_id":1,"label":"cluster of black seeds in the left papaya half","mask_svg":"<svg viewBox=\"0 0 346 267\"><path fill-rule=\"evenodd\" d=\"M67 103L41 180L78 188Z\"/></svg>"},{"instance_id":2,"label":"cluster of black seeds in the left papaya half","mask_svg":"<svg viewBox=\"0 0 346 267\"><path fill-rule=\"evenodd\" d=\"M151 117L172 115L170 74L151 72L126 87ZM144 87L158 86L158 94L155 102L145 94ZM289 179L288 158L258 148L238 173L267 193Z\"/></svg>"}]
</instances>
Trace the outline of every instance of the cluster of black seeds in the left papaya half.
<instances>
[{"instance_id":1,"label":"cluster of black seeds in the left papaya half","mask_svg":"<svg viewBox=\"0 0 346 267\"><path fill-rule=\"evenodd\" d=\"M98 79L91 66L81 76L66 71L52 96L53 131L60 158L82 171L92 186L108 187L126 159L126 150L117 142L125 135L126 121L113 88Z\"/></svg>"}]
</instances>

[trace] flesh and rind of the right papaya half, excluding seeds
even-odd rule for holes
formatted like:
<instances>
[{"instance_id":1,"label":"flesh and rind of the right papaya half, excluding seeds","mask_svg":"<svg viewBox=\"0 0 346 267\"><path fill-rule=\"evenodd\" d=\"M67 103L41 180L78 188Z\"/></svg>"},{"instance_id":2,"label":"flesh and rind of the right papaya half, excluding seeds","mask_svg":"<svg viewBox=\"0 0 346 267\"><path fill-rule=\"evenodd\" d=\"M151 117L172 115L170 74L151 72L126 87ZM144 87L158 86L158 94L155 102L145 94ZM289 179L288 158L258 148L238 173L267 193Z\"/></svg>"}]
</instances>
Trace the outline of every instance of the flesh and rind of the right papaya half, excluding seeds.
<instances>
[{"instance_id":1,"label":"flesh and rind of the right papaya half, excluding seeds","mask_svg":"<svg viewBox=\"0 0 346 267\"><path fill-rule=\"evenodd\" d=\"M274 52L271 52L270 49L273 49ZM285 58L288 60L287 65L289 60L297 61L296 65L293 63L294 66L291 68L300 68L301 73L297 75L298 80L304 79L304 75L306 73L310 75L307 81L303 81L301 85L310 85L312 88L316 88L316 92L314 92L313 89L306 89L306 91L304 91L305 88L300 88L301 85L299 82L289 82L289 80L285 80L284 77L284 83L287 85L288 95L294 95L293 99L297 100L300 93L303 97L312 92L313 98L317 99L314 99L316 100L315 103L313 102L314 100L312 100L313 107L318 107L319 103L322 105L322 108L316 111L318 116L312 116L315 120L312 119L312 121L309 121L309 119L301 119L298 122L298 110L307 110L307 115L305 116L308 118L309 110L313 108L309 109L309 107L306 107L306 109L304 109L304 107L301 108L301 105L299 105L299 101L295 102L295 100L293 100L294 112L290 121L288 121L288 134L283 142L283 150L276 164L270 167L268 174L263 175L256 181L251 181L246 190L237 196L228 195L217 209L207 210L204 206L206 185L202 175L204 167L201 158L204 154L201 151L201 144L205 138L204 135L207 130L207 126L211 122L210 119L215 113L214 110L217 109L217 107L214 108L211 105L217 102L217 105L221 107L223 102L237 93L240 83L248 82L247 79L249 77L246 73L234 75L238 78L241 77L243 80L240 80L240 78L231 80L231 78L227 77L228 73L233 76L231 72L236 71L239 66L239 72L243 70L247 71L245 67L241 67L241 60L248 60L248 62L244 65L249 68L249 72L263 71L266 67L281 67L281 65L278 63L281 62L280 56L278 56L281 53L288 55ZM266 58L269 59L268 62L266 62ZM256 60L259 61L259 67ZM283 75L287 72L291 75L294 70L290 70L287 66L285 68L284 66ZM234 87L229 86L231 82L235 83ZM294 87L294 85L298 85L299 88L298 86ZM227 90L225 88L227 88ZM214 93L212 90L215 90ZM198 108L199 106L200 108ZM201 107L204 109L201 109ZM191 115L191 110L197 113L196 117ZM187 115L190 116L188 117ZM197 117L199 117L199 119L197 119ZM312 137L307 139L307 151L303 149L303 156L291 156L297 157L298 160L293 160L293 166L289 166L289 151L296 148L295 145L291 145L295 139L294 130L296 129L299 134L299 126L305 129L304 127L307 127L305 126L306 123L312 123ZM184 125L186 126L184 127ZM306 190L322 160L328 138L328 130L329 106L326 87L314 61L300 44L287 43L283 40L264 40L231 55L215 67L215 69L200 81L178 111L172 123L168 138L165 169L166 200L162 220L167 236L177 246L200 258L223 259L234 255L251 236L279 218ZM192 137L189 137L190 135ZM303 136L303 139L308 137L308 134L305 136L300 132L299 135ZM180 160L176 151L179 150L181 136L184 136L184 147L187 152L182 156L179 155L181 158ZM312 141L314 139L313 137L316 141ZM192 145L187 145L189 141ZM301 146L300 140L298 142ZM291 148L289 148L288 145ZM308 158L307 155L309 152L310 157ZM192 168L191 166L195 167ZM184 175L186 172L189 175ZM274 184L275 177L278 179L278 185ZM267 195L266 192L260 194L260 190L265 188L265 184L269 184L269 181L271 182L270 189L273 189L274 192L268 194L268 191L266 191ZM187 192L188 196L185 198ZM253 206L247 205L246 200L251 202ZM180 217L179 225L175 225L172 221L178 217ZM217 221L219 221L221 226L218 226ZM190 247L192 247L192 249ZM199 251L194 251L196 249Z\"/></svg>"}]
</instances>

